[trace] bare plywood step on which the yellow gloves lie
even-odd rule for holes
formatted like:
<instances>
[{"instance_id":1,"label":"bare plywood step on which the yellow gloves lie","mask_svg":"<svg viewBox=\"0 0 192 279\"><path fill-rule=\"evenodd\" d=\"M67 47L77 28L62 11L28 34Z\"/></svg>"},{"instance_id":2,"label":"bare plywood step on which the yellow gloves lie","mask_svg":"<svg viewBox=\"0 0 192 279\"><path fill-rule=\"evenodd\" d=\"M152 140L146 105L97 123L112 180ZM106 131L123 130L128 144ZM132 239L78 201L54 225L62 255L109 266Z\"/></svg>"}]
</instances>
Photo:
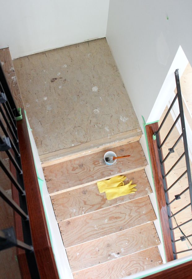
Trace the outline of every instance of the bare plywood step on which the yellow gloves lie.
<instances>
[{"instance_id":1,"label":"bare plywood step on which the yellow gloves lie","mask_svg":"<svg viewBox=\"0 0 192 279\"><path fill-rule=\"evenodd\" d=\"M133 180L133 184L137 184L137 191L134 194L107 200L105 193L99 193L97 184L95 183L51 196L57 221L61 222L152 193L145 170L138 170L125 175L127 176L127 179L124 181L125 184L129 183L130 180Z\"/></svg>"}]
</instances>

